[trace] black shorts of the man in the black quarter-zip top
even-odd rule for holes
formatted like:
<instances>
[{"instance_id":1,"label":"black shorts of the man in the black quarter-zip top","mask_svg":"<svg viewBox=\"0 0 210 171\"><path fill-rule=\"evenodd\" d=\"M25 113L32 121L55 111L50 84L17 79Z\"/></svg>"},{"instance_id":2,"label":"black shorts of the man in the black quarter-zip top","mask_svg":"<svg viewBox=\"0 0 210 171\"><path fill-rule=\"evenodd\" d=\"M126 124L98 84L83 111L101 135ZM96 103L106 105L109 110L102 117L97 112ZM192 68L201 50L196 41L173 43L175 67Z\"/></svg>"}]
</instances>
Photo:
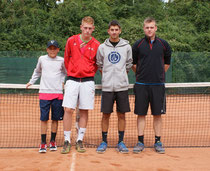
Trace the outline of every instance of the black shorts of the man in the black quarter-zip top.
<instances>
[{"instance_id":1,"label":"black shorts of the man in the black quarter-zip top","mask_svg":"<svg viewBox=\"0 0 210 171\"><path fill-rule=\"evenodd\" d=\"M152 115L166 113L165 85L134 85L135 109L137 115L147 115L150 104Z\"/></svg>"}]
</instances>

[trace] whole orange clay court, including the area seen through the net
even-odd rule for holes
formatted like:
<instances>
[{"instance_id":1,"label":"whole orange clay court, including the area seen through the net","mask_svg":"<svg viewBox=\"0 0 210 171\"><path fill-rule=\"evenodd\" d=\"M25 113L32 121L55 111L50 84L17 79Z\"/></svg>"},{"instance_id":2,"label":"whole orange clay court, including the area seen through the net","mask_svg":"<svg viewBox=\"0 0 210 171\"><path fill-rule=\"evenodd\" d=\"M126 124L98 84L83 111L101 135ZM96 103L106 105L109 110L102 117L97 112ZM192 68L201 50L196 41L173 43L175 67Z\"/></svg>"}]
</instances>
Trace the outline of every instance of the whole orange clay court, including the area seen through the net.
<instances>
[{"instance_id":1,"label":"whole orange clay court, including the area seen through the net","mask_svg":"<svg viewBox=\"0 0 210 171\"><path fill-rule=\"evenodd\" d=\"M182 86L185 86L184 88ZM152 117L147 116L146 150L133 154L137 141L134 95L130 94L131 112L126 114L125 143L129 154L119 154L109 148L105 154L95 152L101 141L100 93L95 97L95 109L89 113L85 135L87 152L78 154L74 146L70 154L38 153L40 143L39 100L37 90L1 88L0 96L0 170L210 170L210 89L203 86L172 87L167 90L167 114L163 116L162 141L166 154L154 152ZM170 85L169 85L170 87ZM23 88L22 88L23 89ZM74 115L75 117L75 115ZM49 125L50 126L50 122ZM72 129L75 142L75 129ZM48 128L50 135L50 127ZM50 136L47 137L49 142ZM63 144L63 125L59 124L57 144ZM109 147L118 141L117 117L114 110L108 133ZM89 147L89 148L88 148ZM175 148L176 147L176 148ZM187 148L186 148L187 147ZM197 147L197 148L195 148ZM202 147L202 148L201 148Z\"/></svg>"}]
</instances>

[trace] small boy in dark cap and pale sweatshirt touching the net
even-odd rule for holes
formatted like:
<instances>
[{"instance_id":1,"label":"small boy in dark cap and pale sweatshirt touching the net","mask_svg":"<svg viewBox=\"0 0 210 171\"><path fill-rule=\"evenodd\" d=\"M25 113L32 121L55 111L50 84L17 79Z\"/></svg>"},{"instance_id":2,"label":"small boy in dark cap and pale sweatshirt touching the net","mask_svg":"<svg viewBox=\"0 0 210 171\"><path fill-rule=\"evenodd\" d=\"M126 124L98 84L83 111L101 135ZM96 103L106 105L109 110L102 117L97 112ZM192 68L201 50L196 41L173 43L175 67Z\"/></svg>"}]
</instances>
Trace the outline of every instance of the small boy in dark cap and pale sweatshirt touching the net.
<instances>
[{"instance_id":1,"label":"small boy in dark cap and pale sweatshirt touching the net","mask_svg":"<svg viewBox=\"0 0 210 171\"><path fill-rule=\"evenodd\" d=\"M33 75L26 84L26 88L34 84L39 77L40 89L40 120L41 120L41 145L39 152L46 153L46 133L47 133L47 121L49 120L49 111L51 108L51 140L50 151L56 151L57 146L55 137L58 128L58 120L63 119L64 110L62 107L63 102L63 85L66 76L66 70L64 66L64 59L57 56L59 52L59 45L55 40L51 40L47 43L48 55L40 56Z\"/></svg>"}]
</instances>

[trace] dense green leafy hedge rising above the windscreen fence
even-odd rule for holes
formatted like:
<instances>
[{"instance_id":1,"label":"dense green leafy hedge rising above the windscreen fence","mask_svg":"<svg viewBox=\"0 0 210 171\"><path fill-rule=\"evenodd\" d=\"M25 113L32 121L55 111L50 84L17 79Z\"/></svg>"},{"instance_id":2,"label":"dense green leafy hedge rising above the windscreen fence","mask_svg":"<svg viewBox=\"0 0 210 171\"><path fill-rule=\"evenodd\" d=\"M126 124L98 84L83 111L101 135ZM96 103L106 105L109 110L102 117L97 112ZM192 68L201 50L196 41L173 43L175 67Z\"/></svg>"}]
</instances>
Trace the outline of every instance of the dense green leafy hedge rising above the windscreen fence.
<instances>
[{"instance_id":1,"label":"dense green leafy hedge rising above the windscreen fence","mask_svg":"<svg viewBox=\"0 0 210 171\"><path fill-rule=\"evenodd\" d=\"M144 36L142 22L153 16L158 36L166 39L173 51L209 51L210 3L198 0L56 0L0 1L0 50L44 50L49 39L56 39L64 50L66 40L80 32L81 19L95 19L94 36L107 38L109 21L122 25L122 37L133 44ZM202 42L202 44L200 43Z\"/></svg>"}]
</instances>

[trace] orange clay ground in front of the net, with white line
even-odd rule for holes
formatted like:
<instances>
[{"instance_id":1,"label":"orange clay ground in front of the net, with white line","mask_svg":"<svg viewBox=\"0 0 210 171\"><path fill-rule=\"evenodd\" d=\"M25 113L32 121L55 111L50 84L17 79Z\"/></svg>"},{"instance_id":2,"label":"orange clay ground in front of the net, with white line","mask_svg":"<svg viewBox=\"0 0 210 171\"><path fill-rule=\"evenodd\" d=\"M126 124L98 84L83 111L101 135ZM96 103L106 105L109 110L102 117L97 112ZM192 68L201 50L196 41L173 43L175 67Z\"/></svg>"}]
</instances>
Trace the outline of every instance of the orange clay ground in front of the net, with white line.
<instances>
[{"instance_id":1,"label":"orange clay ground in front of the net, with white line","mask_svg":"<svg viewBox=\"0 0 210 171\"><path fill-rule=\"evenodd\" d=\"M2 171L209 171L210 148L167 148L157 154L146 148L140 154L120 154L111 148L97 154L94 148L79 154L39 154L38 149L0 149ZM132 149L130 149L131 151Z\"/></svg>"}]
</instances>

